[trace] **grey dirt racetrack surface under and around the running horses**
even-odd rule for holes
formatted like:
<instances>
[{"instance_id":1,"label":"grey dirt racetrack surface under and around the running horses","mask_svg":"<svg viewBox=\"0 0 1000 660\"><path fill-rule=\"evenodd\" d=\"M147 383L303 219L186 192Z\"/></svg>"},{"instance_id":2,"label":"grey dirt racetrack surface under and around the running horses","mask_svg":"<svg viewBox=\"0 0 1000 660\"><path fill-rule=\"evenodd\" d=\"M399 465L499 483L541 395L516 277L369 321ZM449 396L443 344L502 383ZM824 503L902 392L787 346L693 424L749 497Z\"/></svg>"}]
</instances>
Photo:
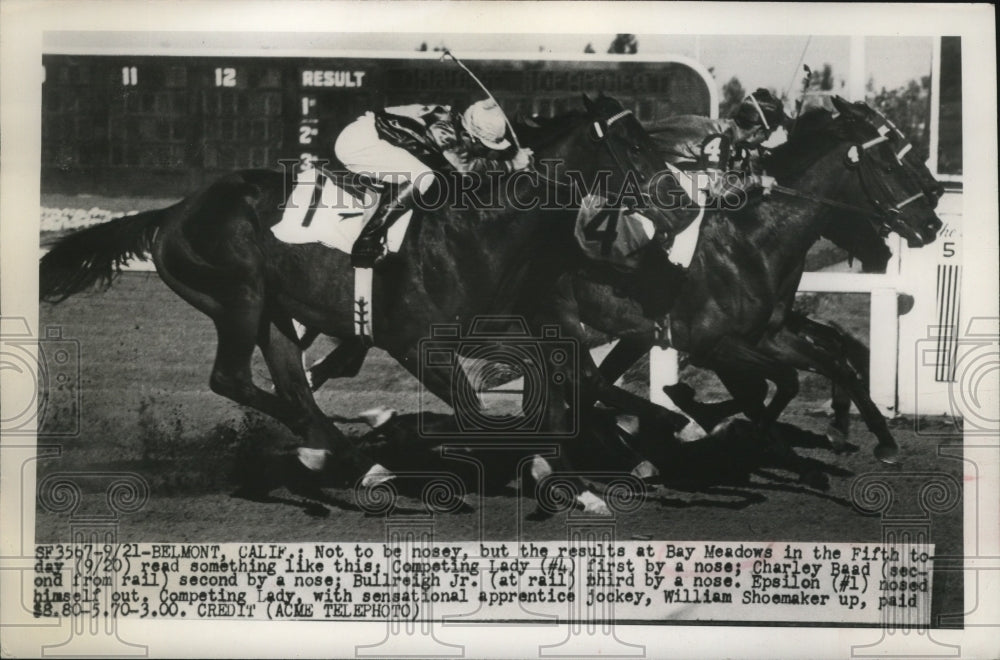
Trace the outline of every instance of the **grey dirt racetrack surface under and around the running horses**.
<instances>
[{"instance_id":1,"label":"grey dirt racetrack surface under and around the running horses","mask_svg":"<svg viewBox=\"0 0 1000 660\"><path fill-rule=\"evenodd\" d=\"M417 419L418 384L378 350L357 378L327 383L317 400L330 414L354 415L376 405L404 413L381 434L362 437L367 427L343 426L401 473L400 497L388 511L371 502L359 506L351 491L305 488L291 460L295 438L208 389L214 328L155 273L125 273L106 292L43 304L40 325L43 336L46 327L60 327L64 339L78 342L81 413L77 418L64 403L46 410L43 429L71 435L39 438L51 447L39 452L40 488L47 476L62 472L140 476L149 498L122 517L121 542L380 541L387 517L433 524L438 540L559 540L567 537L568 522L581 522L575 512L539 515L533 484L516 478L518 459L530 452L442 458L431 449L435 443L408 433ZM259 356L254 373L267 387ZM631 387L641 390L642 383ZM782 417L781 448L750 437L739 422L720 437L685 445L644 438L664 486L622 507L627 510L613 519L615 538L878 542L880 516L852 504L859 477L879 479L873 473L883 472L894 489L894 515L922 511L919 493L928 475L963 483L961 435L949 433L944 422L937 427L941 435L928 437L914 432L912 420L894 420L904 463L886 469L872 457L874 438L859 418L853 423L859 451L836 455L825 448L820 434L827 420L817 412L822 400L808 399L816 388L804 392L806 398ZM438 403L424 412L440 422L448 411ZM578 458L578 469L608 468L600 457ZM421 497L427 473L456 478L438 479L444 496L439 489ZM94 486L84 487L77 516L107 511L106 483L90 481ZM518 483L527 492L520 493ZM449 489L464 498L449 497ZM962 506L947 508L928 518L931 541L937 555L960 555ZM70 512L39 506L38 542L68 541L70 530ZM961 576L936 571L935 615L962 611Z\"/></svg>"}]
</instances>

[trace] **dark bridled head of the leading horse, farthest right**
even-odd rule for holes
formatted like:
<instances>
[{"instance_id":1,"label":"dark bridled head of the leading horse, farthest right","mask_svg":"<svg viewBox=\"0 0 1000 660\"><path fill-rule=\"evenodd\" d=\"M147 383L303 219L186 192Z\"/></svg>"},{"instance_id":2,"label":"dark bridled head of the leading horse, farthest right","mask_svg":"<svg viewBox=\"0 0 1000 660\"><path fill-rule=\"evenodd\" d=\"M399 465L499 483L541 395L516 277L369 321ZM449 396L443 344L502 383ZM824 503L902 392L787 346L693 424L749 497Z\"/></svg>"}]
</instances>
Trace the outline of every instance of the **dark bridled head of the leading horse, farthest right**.
<instances>
[{"instance_id":1,"label":"dark bridled head of the leading horse, farthest right","mask_svg":"<svg viewBox=\"0 0 1000 660\"><path fill-rule=\"evenodd\" d=\"M884 131L854 104L833 102L836 113L817 108L796 119L788 141L768 159L769 171L779 182L800 184L818 173L833 185L827 199L817 201L845 209L842 221L863 218L878 235L896 232L910 247L933 242L942 226L933 190L920 184ZM821 161L824 166L816 167Z\"/></svg>"}]
</instances>

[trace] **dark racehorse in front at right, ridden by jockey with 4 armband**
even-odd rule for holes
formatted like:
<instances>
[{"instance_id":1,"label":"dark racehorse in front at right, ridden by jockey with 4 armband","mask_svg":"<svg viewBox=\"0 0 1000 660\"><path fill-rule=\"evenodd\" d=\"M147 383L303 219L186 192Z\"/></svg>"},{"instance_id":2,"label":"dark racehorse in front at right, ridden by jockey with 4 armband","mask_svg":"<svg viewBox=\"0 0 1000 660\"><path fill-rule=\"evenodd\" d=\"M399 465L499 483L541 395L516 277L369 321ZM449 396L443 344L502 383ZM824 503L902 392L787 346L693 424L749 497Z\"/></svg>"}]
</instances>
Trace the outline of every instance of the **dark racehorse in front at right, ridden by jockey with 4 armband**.
<instances>
[{"instance_id":1,"label":"dark racehorse in front at right, ridden by jockey with 4 armband","mask_svg":"<svg viewBox=\"0 0 1000 660\"><path fill-rule=\"evenodd\" d=\"M870 109L834 102L839 115L804 114L775 150L767 164L781 182L774 192L757 192L735 213L706 215L670 312L671 343L693 364L715 371L734 396L720 404L715 420L743 412L766 431L797 393L797 369L817 371L857 405L878 438L876 457L894 462L898 447L867 393L867 349L835 326L795 314L794 296L806 252L831 226L838 228L831 237L845 241L853 232L842 229L860 220L870 223L863 230L869 237L893 230L911 246L932 242L941 227L933 212L941 189L921 174L922 163L902 160L907 154L872 124ZM879 251L871 254L877 258ZM586 271L564 276L558 300L567 319L621 338L596 376L583 367L601 399L654 345L654 324ZM766 380L777 390L765 406ZM696 420L706 420L683 386L668 393Z\"/></svg>"}]
</instances>

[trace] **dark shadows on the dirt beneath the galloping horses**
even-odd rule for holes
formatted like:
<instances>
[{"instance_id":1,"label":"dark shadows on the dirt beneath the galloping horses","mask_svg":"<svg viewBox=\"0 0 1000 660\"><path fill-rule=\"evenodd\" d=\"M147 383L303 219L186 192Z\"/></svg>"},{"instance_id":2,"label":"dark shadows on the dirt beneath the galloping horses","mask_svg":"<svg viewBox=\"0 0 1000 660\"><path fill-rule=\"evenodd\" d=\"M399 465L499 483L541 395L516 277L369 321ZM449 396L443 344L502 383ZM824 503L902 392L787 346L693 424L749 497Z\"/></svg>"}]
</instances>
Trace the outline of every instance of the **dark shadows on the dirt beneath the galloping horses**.
<instances>
[{"instance_id":1,"label":"dark shadows on the dirt beneath the galloping horses","mask_svg":"<svg viewBox=\"0 0 1000 660\"><path fill-rule=\"evenodd\" d=\"M702 440L681 443L671 436L648 428L634 436L626 433L611 411L594 411L580 441L575 443L572 460L585 477L598 487L615 476L628 474L632 466L623 463L613 451L616 443L631 445L647 456L660 470L658 478L647 480L644 494L650 504L666 509L723 508L743 509L766 502L768 493L787 492L825 499L846 508L850 502L831 494L830 479L850 478L854 473L832 462L800 454L797 450L829 449L824 436L789 424L778 424L767 439L755 433L750 422L734 420L724 429ZM432 431L431 434L421 430ZM530 479L527 466L534 452L554 446L545 441L511 436L509 443L485 441L475 436L443 440L440 434L455 432L450 415L432 413L400 415L379 429L357 440L368 455L389 467L398 476L391 482L393 496L416 498L416 508L393 503L393 515L434 513L470 513L463 495L517 496L517 478ZM600 434L601 442L598 442ZM609 438L613 441L609 442ZM244 454L245 455L245 454ZM275 470L277 462L287 464L284 473ZM520 467L520 474L519 474ZM240 482L253 484L252 491L242 488L239 496L260 501L281 502L280 498L261 493L285 487L293 494L326 506L357 511L349 504L358 493L331 490L330 484L297 469L294 461L260 454L244 462L237 471ZM310 479L312 481L310 481ZM437 493L428 496L431 484ZM521 492L534 487L525 482ZM254 497L251 492L258 495ZM330 495L335 493L335 495ZM684 494L677 497L674 493ZM694 496L694 497L691 497ZM434 501L430 501L434 500ZM291 503L287 502L286 503ZM297 503L303 506L302 503ZM369 512L368 507L361 507Z\"/></svg>"}]
</instances>

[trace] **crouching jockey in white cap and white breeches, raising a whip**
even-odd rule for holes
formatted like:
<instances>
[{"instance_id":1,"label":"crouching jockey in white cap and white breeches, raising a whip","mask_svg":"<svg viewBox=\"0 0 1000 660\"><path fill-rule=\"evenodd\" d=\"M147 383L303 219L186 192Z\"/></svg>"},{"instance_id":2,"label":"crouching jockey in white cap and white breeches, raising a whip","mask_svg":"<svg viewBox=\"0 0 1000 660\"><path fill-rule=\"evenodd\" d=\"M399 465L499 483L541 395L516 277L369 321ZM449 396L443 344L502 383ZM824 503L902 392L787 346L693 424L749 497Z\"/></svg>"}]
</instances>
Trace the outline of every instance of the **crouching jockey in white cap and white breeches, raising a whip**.
<instances>
[{"instance_id":1,"label":"crouching jockey in white cap and white breeches, raising a whip","mask_svg":"<svg viewBox=\"0 0 1000 660\"><path fill-rule=\"evenodd\" d=\"M450 107L408 105L367 112L337 137L334 153L348 170L387 184L378 208L351 251L351 264L371 268L385 232L427 192L435 170L513 172L531 163L530 149L514 149L507 119L492 99L459 114Z\"/></svg>"}]
</instances>

